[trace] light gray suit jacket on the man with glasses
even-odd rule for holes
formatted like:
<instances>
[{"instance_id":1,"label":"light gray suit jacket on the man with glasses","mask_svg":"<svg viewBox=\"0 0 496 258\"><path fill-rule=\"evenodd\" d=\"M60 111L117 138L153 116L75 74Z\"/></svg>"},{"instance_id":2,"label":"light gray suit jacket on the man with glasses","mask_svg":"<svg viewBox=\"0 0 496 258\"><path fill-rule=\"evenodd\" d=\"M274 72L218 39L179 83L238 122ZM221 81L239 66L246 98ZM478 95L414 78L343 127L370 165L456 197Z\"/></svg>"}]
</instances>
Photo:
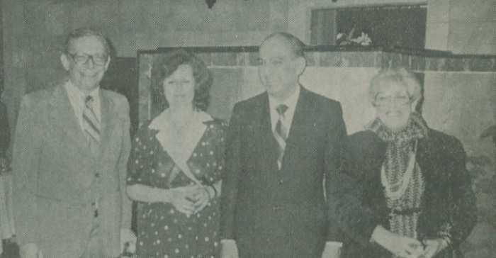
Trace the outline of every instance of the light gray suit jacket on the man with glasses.
<instances>
[{"instance_id":1,"label":"light gray suit jacket on the man with glasses","mask_svg":"<svg viewBox=\"0 0 496 258\"><path fill-rule=\"evenodd\" d=\"M120 228L130 228L128 101L103 89L100 98L97 151L89 148L64 84L21 103L13 145L14 223L20 244L37 243L45 257L81 256L96 199L106 256L118 257Z\"/></svg>"}]
</instances>

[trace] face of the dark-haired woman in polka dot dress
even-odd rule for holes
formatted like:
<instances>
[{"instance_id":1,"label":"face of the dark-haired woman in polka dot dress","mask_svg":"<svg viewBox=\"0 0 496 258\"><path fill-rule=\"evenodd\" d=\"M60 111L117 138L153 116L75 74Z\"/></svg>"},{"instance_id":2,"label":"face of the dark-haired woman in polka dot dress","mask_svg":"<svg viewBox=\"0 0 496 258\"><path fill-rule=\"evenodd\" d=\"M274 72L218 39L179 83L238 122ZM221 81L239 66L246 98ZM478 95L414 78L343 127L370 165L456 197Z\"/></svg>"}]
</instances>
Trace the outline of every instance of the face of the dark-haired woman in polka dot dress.
<instances>
[{"instance_id":1,"label":"face of the dark-haired woman in polka dot dress","mask_svg":"<svg viewBox=\"0 0 496 258\"><path fill-rule=\"evenodd\" d=\"M171 108L193 108L195 78L189 64L181 64L164 79L164 94Z\"/></svg>"}]
</instances>

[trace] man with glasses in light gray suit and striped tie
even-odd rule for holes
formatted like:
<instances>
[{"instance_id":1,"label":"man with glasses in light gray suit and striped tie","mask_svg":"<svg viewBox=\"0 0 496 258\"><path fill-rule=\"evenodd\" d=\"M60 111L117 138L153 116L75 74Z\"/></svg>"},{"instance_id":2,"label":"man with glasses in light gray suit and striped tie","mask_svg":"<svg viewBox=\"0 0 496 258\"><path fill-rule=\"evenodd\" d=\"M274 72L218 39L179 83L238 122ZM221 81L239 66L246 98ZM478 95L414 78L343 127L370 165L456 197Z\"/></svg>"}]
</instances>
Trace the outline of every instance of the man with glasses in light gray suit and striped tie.
<instances>
[{"instance_id":1,"label":"man with glasses in light gray suit and striped tie","mask_svg":"<svg viewBox=\"0 0 496 258\"><path fill-rule=\"evenodd\" d=\"M130 119L99 88L110 62L95 30L69 33L61 84L23 98L13 145L14 223L23 258L115 258L130 231Z\"/></svg>"}]
</instances>

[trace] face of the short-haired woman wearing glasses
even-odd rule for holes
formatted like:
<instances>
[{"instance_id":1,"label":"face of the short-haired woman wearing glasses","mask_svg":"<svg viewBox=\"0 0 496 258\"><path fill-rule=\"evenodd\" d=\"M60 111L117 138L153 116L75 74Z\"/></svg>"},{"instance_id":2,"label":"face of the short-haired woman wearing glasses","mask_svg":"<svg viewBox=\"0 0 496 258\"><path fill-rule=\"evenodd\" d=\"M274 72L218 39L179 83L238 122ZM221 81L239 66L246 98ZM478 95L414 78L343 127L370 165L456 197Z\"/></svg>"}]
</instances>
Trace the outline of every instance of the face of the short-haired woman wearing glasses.
<instances>
[{"instance_id":1,"label":"face of the short-haired woman wearing glasses","mask_svg":"<svg viewBox=\"0 0 496 258\"><path fill-rule=\"evenodd\" d=\"M405 128L416 104L416 101L411 101L406 87L397 83L385 84L373 102L378 118L390 130Z\"/></svg>"}]
</instances>

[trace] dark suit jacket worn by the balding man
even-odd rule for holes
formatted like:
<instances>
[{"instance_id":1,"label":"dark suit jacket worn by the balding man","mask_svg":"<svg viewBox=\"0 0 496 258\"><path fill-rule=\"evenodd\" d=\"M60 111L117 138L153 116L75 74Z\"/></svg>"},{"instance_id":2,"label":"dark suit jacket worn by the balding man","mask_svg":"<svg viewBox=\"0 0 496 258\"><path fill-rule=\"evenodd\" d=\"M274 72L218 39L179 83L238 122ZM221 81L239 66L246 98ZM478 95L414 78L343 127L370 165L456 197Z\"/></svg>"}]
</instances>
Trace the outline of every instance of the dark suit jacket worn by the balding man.
<instances>
[{"instance_id":1,"label":"dark suit jacket worn by the balding man","mask_svg":"<svg viewBox=\"0 0 496 258\"><path fill-rule=\"evenodd\" d=\"M329 222L345 136L340 104L302 87L279 171L269 95L235 105L227 133L221 231L222 239L237 242L239 257L321 256L325 241L335 240Z\"/></svg>"}]
</instances>

